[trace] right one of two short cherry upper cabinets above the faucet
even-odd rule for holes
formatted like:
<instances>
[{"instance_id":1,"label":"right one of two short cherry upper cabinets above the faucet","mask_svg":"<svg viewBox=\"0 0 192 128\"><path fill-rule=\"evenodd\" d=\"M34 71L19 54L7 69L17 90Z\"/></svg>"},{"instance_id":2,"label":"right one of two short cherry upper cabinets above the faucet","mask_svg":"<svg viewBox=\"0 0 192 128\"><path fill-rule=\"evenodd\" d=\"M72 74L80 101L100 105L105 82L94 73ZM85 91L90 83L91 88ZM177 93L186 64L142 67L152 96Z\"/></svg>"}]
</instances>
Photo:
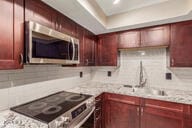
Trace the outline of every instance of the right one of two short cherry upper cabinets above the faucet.
<instances>
[{"instance_id":1,"label":"right one of two short cherry upper cabinets above the faucet","mask_svg":"<svg viewBox=\"0 0 192 128\"><path fill-rule=\"evenodd\" d=\"M168 46L170 25L141 29L141 47Z\"/></svg>"}]
</instances>

